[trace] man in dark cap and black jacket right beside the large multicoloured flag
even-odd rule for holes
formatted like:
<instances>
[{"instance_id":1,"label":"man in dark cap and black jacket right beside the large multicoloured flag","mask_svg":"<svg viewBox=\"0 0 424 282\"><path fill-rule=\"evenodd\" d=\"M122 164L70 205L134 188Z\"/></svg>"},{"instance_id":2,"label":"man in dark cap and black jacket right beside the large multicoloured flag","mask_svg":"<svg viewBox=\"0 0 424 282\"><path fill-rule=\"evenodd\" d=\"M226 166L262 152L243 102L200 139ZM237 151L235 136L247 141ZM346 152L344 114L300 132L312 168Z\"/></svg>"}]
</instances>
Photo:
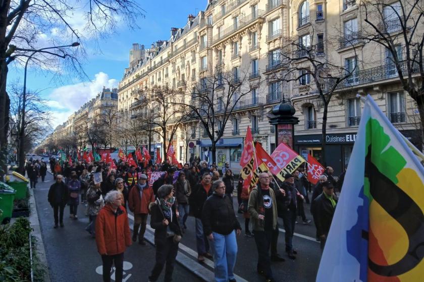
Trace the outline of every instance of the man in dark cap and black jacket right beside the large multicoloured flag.
<instances>
[{"instance_id":1,"label":"man in dark cap and black jacket right beside the large multicoloured flag","mask_svg":"<svg viewBox=\"0 0 424 282\"><path fill-rule=\"evenodd\" d=\"M328 181L322 186L323 193L312 202L311 211L314 215L316 233L320 238L321 248L324 249L338 199L334 194L333 183Z\"/></svg>"}]
</instances>

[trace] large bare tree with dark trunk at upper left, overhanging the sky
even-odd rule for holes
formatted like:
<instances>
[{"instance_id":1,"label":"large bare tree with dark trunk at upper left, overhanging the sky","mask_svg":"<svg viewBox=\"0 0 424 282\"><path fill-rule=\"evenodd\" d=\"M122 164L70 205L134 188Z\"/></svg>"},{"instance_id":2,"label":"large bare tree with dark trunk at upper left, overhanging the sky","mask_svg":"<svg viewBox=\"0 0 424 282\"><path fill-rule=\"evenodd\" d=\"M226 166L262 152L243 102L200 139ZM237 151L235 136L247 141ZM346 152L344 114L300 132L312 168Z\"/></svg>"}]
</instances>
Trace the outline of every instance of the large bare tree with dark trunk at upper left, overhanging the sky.
<instances>
[{"instance_id":1,"label":"large bare tree with dark trunk at upper left, overhanging the sky","mask_svg":"<svg viewBox=\"0 0 424 282\"><path fill-rule=\"evenodd\" d=\"M45 47L40 34L51 34L51 30L55 30L58 36L49 39L52 46L83 42L85 36L95 40L113 32L118 20L124 20L130 28L134 28L136 17L143 16L142 9L134 0L83 2L77 8L77 2L69 0L0 1L0 146L6 144L10 110L6 84L10 64L23 64L32 53L37 52L32 62L39 68L54 71L69 68L84 76L78 61L78 58L84 57L82 47L39 52L38 48ZM71 24L70 19L74 17L85 18L83 28L77 29ZM59 60L60 57L65 60Z\"/></svg>"}]
</instances>

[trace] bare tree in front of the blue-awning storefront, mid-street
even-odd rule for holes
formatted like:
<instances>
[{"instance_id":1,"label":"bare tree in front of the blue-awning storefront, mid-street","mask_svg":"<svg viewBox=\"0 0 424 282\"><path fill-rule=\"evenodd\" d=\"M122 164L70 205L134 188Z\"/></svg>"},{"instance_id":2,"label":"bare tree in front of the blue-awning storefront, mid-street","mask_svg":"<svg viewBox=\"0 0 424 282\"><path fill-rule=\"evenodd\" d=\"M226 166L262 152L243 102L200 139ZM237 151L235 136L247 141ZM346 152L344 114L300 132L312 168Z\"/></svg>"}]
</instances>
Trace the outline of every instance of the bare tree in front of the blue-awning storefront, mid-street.
<instances>
[{"instance_id":1,"label":"bare tree in front of the blue-awning storefront, mid-street","mask_svg":"<svg viewBox=\"0 0 424 282\"><path fill-rule=\"evenodd\" d=\"M212 159L216 162L216 144L224 134L224 128L232 116L232 112L243 105L257 102L257 96L249 94L257 84L248 82L249 74L239 68L231 71L217 68L209 76L200 78L194 85L186 83L187 91L176 104L183 105L190 112L189 118L197 120L203 128L203 136L212 143ZM221 129L218 130L218 123Z\"/></svg>"}]
</instances>

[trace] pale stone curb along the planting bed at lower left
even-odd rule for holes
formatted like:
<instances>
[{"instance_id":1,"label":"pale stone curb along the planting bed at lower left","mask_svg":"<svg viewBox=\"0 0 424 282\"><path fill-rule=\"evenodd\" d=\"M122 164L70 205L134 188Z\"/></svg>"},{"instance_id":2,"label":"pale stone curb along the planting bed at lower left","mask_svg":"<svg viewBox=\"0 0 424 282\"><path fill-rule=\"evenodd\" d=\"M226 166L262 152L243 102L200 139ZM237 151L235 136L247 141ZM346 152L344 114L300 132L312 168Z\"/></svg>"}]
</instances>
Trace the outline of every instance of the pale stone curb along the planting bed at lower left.
<instances>
[{"instance_id":1,"label":"pale stone curb along the planting bed at lower left","mask_svg":"<svg viewBox=\"0 0 424 282\"><path fill-rule=\"evenodd\" d=\"M40 228L40 221L38 220L38 213L37 213L37 206L35 204L35 198L34 198L34 191L28 188L29 190L29 222L32 228L31 235L33 235L35 238L37 238L37 244L36 244L36 252L37 256L40 260L41 265L45 265L46 269L44 271L43 275L43 281L44 282L50 282L50 273L48 271L48 264L47 264L47 258L45 254L44 249L44 242L43 237L41 236L41 228Z\"/></svg>"}]
</instances>

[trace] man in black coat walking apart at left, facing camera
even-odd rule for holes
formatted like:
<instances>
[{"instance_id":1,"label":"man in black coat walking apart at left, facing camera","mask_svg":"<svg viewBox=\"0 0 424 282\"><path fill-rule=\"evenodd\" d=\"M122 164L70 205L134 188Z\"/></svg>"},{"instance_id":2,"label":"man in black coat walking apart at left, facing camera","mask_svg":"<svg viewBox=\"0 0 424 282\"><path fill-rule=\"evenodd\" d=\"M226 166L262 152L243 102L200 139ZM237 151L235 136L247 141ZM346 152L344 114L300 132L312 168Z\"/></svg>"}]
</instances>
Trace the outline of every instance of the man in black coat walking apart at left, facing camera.
<instances>
[{"instance_id":1,"label":"man in black coat walking apart at left, facing camera","mask_svg":"<svg viewBox=\"0 0 424 282\"><path fill-rule=\"evenodd\" d=\"M61 227L63 225L63 210L65 209L66 203L69 199L69 190L68 186L63 183L63 176L57 175L56 182L50 186L48 190L47 200L53 208L53 214L55 216L55 227L58 228L58 222L60 222ZM59 218L58 218L59 212Z\"/></svg>"}]
</instances>

